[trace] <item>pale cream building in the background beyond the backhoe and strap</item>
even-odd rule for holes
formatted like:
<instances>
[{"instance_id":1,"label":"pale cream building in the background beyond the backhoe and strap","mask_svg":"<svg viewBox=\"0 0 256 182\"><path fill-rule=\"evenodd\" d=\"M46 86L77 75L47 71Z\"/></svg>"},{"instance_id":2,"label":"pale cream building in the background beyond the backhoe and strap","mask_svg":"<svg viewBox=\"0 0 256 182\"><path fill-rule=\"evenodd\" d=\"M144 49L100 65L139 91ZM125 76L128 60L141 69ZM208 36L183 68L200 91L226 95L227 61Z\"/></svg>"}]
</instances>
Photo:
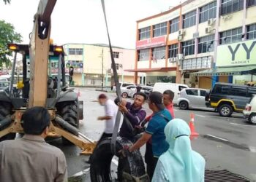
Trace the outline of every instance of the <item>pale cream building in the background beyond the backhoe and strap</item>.
<instances>
[{"instance_id":1,"label":"pale cream building in the background beyond the backhoe and strap","mask_svg":"<svg viewBox=\"0 0 256 182\"><path fill-rule=\"evenodd\" d=\"M65 44L65 61L74 67L73 80L78 86L110 87L113 85L110 50L105 44ZM119 82L134 82L135 50L113 47Z\"/></svg>"}]
</instances>

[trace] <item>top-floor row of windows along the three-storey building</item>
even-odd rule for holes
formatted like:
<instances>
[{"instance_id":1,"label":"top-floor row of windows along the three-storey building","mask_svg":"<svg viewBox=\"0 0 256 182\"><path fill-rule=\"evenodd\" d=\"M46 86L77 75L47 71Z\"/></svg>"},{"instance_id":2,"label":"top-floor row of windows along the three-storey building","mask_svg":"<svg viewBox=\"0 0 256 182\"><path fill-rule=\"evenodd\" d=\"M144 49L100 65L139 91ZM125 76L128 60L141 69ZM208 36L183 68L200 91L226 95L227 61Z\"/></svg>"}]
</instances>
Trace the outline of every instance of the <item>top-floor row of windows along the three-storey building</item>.
<instances>
[{"instance_id":1,"label":"top-floor row of windows along the three-storey building","mask_svg":"<svg viewBox=\"0 0 256 182\"><path fill-rule=\"evenodd\" d=\"M256 6L256 0L246 0L246 6L252 7ZM226 15L231 12L237 12L244 8L244 0L222 0L222 5L220 9L221 15ZM216 17L217 11L217 1L206 4L203 7L200 7L199 23L206 22L211 18ZM196 24L196 10L188 12L183 15L182 28L189 28ZM170 33L174 33L179 29L179 17L170 20ZM150 26L146 28L141 28L139 30L139 40L149 39L150 36ZM163 36L167 34L167 22L159 23L153 26L153 37Z\"/></svg>"}]
</instances>

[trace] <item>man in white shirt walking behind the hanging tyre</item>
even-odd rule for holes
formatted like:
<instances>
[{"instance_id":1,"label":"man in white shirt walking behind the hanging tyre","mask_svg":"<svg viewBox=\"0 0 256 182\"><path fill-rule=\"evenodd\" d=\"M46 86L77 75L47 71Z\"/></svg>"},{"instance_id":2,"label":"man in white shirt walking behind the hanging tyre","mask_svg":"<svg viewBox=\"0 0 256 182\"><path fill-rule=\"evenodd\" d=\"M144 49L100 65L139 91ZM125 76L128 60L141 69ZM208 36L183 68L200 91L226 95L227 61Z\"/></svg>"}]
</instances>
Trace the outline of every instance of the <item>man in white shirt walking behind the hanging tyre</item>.
<instances>
[{"instance_id":1,"label":"man in white shirt walking behind the hanging tyre","mask_svg":"<svg viewBox=\"0 0 256 182\"><path fill-rule=\"evenodd\" d=\"M105 116L98 117L98 120L105 120L105 130L99 138L99 141L102 141L104 138L112 137L118 107L105 94L100 94L98 99L99 104L105 107Z\"/></svg>"}]
</instances>

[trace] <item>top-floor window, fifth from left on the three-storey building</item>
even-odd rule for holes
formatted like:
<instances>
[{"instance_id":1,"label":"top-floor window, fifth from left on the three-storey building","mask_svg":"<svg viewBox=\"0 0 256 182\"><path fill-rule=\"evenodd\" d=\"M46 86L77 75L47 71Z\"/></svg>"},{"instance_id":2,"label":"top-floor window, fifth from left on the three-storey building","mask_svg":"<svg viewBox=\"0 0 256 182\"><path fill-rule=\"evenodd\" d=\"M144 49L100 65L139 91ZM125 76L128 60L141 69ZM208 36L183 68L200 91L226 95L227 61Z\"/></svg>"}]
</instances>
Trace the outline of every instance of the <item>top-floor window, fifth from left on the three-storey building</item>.
<instances>
[{"instance_id":1,"label":"top-floor window, fifth from left on the three-storey building","mask_svg":"<svg viewBox=\"0 0 256 182\"><path fill-rule=\"evenodd\" d=\"M211 4L207 4L204 7L201 7L199 23L203 23L211 18L215 18L216 9L217 9L217 1L214 1Z\"/></svg>"}]
</instances>

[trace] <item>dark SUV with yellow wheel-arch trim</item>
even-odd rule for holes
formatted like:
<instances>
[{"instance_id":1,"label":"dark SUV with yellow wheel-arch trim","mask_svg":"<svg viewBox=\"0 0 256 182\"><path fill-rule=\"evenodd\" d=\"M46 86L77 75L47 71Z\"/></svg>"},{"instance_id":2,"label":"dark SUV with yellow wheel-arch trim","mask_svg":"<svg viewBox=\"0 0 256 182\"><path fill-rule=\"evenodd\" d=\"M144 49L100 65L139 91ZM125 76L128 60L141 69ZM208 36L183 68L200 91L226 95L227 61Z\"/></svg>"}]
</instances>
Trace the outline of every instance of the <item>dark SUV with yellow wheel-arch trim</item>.
<instances>
[{"instance_id":1,"label":"dark SUV with yellow wheel-arch trim","mask_svg":"<svg viewBox=\"0 0 256 182\"><path fill-rule=\"evenodd\" d=\"M208 102L211 107L217 108L220 116L229 117L233 111L242 112L253 94L256 94L256 87L216 83L210 92Z\"/></svg>"}]
</instances>

